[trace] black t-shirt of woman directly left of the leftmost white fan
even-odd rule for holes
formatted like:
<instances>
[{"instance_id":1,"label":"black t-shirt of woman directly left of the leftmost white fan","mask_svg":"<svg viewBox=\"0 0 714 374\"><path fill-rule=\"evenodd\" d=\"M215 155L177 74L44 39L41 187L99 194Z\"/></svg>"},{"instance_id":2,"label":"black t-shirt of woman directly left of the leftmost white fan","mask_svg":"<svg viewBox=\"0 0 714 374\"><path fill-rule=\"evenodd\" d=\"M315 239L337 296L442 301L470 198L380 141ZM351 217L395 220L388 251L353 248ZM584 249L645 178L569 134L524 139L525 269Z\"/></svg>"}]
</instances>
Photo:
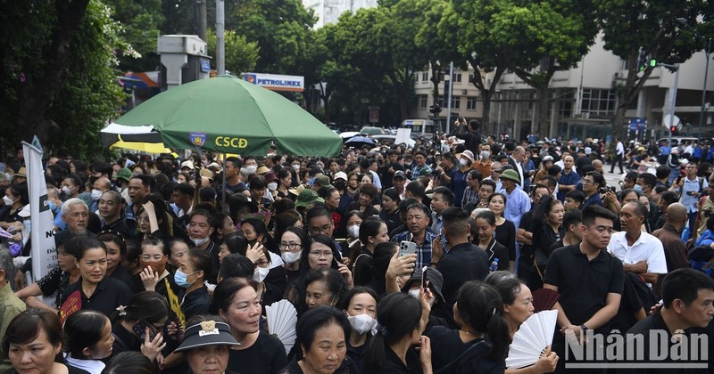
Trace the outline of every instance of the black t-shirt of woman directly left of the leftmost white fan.
<instances>
[{"instance_id":1,"label":"black t-shirt of woman directly left of the leftmost white fan","mask_svg":"<svg viewBox=\"0 0 714 374\"><path fill-rule=\"evenodd\" d=\"M253 346L230 350L228 370L251 374L276 374L287 366L285 346L276 337L260 331Z\"/></svg>"}]
</instances>

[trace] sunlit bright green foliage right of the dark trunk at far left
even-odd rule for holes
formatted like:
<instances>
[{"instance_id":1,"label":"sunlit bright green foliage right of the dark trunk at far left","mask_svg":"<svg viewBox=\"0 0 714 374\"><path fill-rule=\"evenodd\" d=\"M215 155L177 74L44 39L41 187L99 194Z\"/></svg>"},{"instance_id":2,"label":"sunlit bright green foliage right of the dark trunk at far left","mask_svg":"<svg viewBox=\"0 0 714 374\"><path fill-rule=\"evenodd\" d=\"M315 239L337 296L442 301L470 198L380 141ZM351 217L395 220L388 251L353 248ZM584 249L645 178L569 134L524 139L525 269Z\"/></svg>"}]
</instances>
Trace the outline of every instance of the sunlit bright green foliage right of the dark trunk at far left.
<instances>
[{"instance_id":1,"label":"sunlit bright green foliage right of the dark trunk at far left","mask_svg":"<svg viewBox=\"0 0 714 374\"><path fill-rule=\"evenodd\" d=\"M130 46L120 36L120 24L111 9L99 0L87 6L84 22L72 43L70 69L50 110L50 118L62 129L50 139L49 149L64 148L81 159L104 153L99 130L116 118L128 98L117 82L119 64L115 51Z\"/></svg>"}]
</instances>

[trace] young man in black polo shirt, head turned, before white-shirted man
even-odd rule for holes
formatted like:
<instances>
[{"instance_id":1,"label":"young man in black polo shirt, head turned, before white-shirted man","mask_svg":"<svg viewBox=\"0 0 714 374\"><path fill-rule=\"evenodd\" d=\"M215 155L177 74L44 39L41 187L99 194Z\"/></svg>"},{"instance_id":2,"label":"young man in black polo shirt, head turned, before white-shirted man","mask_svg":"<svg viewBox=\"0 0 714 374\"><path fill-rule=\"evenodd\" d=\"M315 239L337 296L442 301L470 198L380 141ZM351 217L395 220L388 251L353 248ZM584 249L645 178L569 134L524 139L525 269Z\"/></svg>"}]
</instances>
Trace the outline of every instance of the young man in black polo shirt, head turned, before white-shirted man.
<instances>
[{"instance_id":1,"label":"young man in black polo shirt, head turned, before white-shirted man","mask_svg":"<svg viewBox=\"0 0 714 374\"><path fill-rule=\"evenodd\" d=\"M556 250L548 260L544 289L560 293L553 306L559 312L560 334L556 332L552 345L563 358L558 362L559 371L566 363L562 334L572 330L580 338L587 329L609 333L610 320L618 313L625 272L619 259L607 252L615 218L604 207L586 207L580 225L583 240Z\"/></svg>"}]
</instances>

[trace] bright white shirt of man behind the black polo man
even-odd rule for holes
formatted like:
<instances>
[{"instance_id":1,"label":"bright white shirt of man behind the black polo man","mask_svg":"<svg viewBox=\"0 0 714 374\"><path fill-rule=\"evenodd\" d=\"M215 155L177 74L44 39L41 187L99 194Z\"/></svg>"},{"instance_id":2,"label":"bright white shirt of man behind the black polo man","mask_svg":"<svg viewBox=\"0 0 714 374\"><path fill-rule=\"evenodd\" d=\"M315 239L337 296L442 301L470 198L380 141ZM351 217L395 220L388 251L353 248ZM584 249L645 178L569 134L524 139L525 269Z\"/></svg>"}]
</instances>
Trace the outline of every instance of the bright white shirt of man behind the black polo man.
<instances>
[{"instance_id":1,"label":"bright white shirt of man behind the black polo man","mask_svg":"<svg viewBox=\"0 0 714 374\"><path fill-rule=\"evenodd\" d=\"M627 245L625 234L626 232L612 234L610 244L608 244L610 255L618 257L622 264L636 264L644 261L647 263L647 272L667 273L664 247L662 247L662 242L659 239L647 232L642 232L635 243L629 246Z\"/></svg>"}]
</instances>

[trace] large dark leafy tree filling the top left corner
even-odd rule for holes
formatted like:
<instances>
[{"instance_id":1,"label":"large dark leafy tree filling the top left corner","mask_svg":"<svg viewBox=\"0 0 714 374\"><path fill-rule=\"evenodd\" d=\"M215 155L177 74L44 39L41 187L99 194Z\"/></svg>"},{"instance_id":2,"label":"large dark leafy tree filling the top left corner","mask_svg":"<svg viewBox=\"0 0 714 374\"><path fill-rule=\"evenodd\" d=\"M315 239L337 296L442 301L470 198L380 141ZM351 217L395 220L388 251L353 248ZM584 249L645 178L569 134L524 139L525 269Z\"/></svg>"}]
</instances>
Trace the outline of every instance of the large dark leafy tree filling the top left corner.
<instances>
[{"instance_id":1,"label":"large dark leafy tree filling the top left corner","mask_svg":"<svg viewBox=\"0 0 714 374\"><path fill-rule=\"evenodd\" d=\"M0 122L7 144L37 135L49 149L66 146L78 157L101 150L98 130L126 98L114 53L130 49L110 14L98 0L5 4Z\"/></svg>"}]
</instances>

